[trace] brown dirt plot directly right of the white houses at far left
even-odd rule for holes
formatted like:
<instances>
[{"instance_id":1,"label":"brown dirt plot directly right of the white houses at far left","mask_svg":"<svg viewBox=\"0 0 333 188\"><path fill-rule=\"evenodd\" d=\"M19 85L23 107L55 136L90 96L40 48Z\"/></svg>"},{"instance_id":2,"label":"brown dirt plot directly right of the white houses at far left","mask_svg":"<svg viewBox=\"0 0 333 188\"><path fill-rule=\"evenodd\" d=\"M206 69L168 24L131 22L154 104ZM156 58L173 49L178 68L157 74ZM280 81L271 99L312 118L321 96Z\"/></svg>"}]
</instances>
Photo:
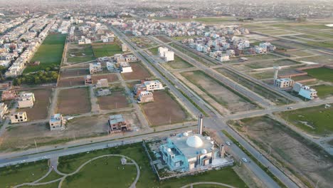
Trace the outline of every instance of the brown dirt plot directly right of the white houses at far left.
<instances>
[{"instance_id":1,"label":"brown dirt plot directly right of the white houses at far left","mask_svg":"<svg viewBox=\"0 0 333 188\"><path fill-rule=\"evenodd\" d=\"M52 89L30 90L35 95L35 103L32 108L18 109L19 112L26 112L28 120L43 120L48 117L48 107L52 95Z\"/></svg>"}]
</instances>

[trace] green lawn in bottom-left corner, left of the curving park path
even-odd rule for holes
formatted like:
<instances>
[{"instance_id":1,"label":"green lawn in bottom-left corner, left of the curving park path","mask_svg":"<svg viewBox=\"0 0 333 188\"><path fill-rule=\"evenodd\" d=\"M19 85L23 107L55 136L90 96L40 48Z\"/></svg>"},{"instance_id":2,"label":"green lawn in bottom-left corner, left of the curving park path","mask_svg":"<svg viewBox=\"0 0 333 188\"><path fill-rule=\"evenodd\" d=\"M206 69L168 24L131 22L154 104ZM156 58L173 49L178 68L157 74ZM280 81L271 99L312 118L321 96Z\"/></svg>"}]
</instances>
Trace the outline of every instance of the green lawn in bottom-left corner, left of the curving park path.
<instances>
[{"instance_id":1,"label":"green lawn in bottom-left corner, left of the curving park path","mask_svg":"<svg viewBox=\"0 0 333 188\"><path fill-rule=\"evenodd\" d=\"M30 162L20 164L18 167L0 168L0 187L14 187L17 184L33 182L48 172L48 162Z\"/></svg>"}]
</instances>

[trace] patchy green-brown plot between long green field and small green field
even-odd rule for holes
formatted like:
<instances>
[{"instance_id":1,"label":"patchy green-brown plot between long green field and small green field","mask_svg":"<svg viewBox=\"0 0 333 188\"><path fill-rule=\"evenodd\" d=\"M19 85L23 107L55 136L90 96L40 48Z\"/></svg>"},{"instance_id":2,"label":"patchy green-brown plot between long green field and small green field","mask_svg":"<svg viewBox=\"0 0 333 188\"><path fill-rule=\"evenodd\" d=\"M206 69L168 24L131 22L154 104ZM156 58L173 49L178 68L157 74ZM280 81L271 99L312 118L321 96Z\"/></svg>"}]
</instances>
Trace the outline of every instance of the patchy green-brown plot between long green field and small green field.
<instances>
[{"instance_id":1,"label":"patchy green-brown plot between long green field and small green field","mask_svg":"<svg viewBox=\"0 0 333 188\"><path fill-rule=\"evenodd\" d=\"M67 62L70 64L95 60L91 44L68 46Z\"/></svg>"}]
</instances>

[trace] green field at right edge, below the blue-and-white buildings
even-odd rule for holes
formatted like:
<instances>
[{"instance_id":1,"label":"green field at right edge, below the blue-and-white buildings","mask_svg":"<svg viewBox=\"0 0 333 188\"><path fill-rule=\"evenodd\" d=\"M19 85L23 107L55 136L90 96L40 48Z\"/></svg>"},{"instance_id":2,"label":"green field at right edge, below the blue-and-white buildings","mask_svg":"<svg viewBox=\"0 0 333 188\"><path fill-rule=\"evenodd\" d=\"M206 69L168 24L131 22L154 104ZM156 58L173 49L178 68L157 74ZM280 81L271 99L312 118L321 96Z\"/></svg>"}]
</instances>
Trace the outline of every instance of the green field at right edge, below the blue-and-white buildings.
<instances>
[{"instance_id":1,"label":"green field at right edge, below the blue-and-white buildings","mask_svg":"<svg viewBox=\"0 0 333 188\"><path fill-rule=\"evenodd\" d=\"M333 133L333 108L324 105L280 113L281 117L312 135L330 135Z\"/></svg>"}]
</instances>

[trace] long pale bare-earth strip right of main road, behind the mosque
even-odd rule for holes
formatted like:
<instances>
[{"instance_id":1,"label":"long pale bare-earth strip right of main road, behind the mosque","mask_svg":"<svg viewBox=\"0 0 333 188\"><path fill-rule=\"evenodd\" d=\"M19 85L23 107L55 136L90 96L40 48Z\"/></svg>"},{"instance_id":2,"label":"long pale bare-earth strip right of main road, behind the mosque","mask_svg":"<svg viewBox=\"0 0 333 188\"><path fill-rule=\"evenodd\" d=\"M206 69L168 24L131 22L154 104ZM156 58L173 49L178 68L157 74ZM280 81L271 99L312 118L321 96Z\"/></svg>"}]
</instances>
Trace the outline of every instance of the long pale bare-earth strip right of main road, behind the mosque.
<instances>
[{"instance_id":1,"label":"long pale bare-earth strip right of main road, behind the mosque","mask_svg":"<svg viewBox=\"0 0 333 188\"><path fill-rule=\"evenodd\" d=\"M231 113L258 108L248 98L226 88L225 85L214 80L202 71L181 73L189 82L196 85L203 93L216 101L216 103L227 108ZM223 109L218 109L223 112Z\"/></svg>"}]
</instances>

